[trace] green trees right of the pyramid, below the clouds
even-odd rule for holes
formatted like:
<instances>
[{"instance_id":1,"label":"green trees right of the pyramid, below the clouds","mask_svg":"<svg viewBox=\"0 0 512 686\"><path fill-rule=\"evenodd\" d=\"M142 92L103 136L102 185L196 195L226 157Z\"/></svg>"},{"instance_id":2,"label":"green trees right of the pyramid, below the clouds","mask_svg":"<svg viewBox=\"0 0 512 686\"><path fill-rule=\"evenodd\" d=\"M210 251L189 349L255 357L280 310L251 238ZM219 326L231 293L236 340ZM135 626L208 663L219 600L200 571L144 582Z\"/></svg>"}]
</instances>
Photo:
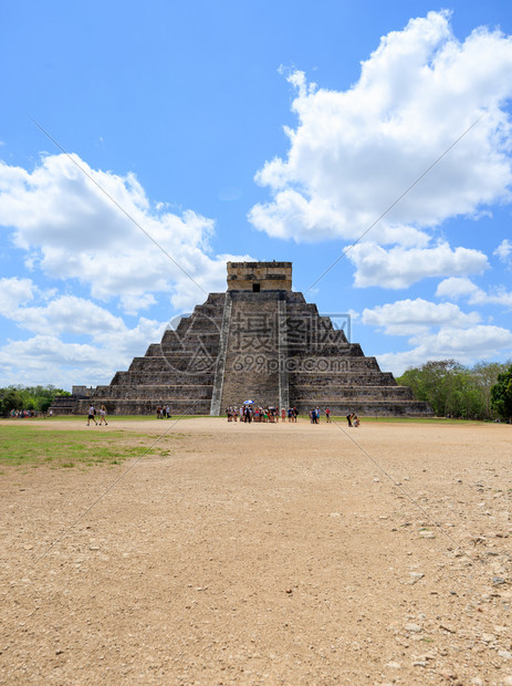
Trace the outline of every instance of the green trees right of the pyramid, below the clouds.
<instances>
[{"instance_id":1,"label":"green trees right of the pyramid, below the clouds","mask_svg":"<svg viewBox=\"0 0 512 686\"><path fill-rule=\"evenodd\" d=\"M438 417L493 420L512 417L512 362L479 362L464 366L454 360L426 362L397 378Z\"/></svg>"}]
</instances>

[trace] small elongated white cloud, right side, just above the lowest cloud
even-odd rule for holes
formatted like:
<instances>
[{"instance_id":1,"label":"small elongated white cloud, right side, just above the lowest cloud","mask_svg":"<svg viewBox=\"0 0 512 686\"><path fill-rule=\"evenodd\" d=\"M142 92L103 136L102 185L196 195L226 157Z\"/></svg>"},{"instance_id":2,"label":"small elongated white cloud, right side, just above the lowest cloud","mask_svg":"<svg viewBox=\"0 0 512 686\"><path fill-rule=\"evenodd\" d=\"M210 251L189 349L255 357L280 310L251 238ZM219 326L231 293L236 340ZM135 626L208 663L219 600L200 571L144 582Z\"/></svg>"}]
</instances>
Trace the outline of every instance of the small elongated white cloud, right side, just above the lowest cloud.
<instances>
[{"instance_id":1,"label":"small elongated white cloud, right side, just above the lowest cloud","mask_svg":"<svg viewBox=\"0 0 512 686\"><path fill-rule=\"evenodd\" d=\"M452 303L436 304L417 298L365 309L362 321L390 335L410 335L432 326L466 329L478 324L480 315L477 312L464 314Z\"/></svg>"}]
</instances>

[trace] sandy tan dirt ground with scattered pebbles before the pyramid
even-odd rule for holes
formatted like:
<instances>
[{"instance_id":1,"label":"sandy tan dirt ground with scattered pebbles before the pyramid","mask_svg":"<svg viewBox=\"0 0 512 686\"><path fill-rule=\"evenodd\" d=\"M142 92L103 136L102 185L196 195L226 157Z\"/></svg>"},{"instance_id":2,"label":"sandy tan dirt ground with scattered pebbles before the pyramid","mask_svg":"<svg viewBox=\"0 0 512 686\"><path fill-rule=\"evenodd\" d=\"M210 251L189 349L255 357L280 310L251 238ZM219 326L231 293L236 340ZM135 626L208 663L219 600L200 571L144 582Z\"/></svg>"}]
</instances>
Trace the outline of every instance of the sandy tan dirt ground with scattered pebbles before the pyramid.
<instances>
[{"instance_id":1,"label":"sandy tan dirt ground with scattered pebbles before the pyramid","mask_svg":"<svg viewBox=\"0 0 512 686\"><path fill-rule=\"evenodd\" d=\"M0 683L511 685L511 445L199 418L165 457L3 468Z\"/></svg>"}]
</instances>

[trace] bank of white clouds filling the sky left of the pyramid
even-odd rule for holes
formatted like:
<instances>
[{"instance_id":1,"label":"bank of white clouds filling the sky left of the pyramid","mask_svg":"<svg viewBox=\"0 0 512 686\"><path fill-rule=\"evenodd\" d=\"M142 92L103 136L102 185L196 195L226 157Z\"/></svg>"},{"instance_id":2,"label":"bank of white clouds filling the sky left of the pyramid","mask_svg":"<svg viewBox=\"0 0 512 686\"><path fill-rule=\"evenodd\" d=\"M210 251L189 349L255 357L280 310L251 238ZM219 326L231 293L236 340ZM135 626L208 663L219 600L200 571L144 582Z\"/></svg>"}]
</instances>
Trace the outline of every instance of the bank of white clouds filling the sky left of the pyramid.
<instances>
[{"instance_id":1,"label":"bank of white clouds filling the sky left of the pyramid","mask_svg":"<svg viewBox=\"0 0 512 686\"><path fill-rule=\"evenodd\" d=\"M0 221L14 246L25 251L34 281L39 270L66 281L67 288L76 279L88 285L93 299L118 299L121 308L135 315L154 305L161 292L170 294L176 310L189 310L207 293L226 290L227 260L252 259L210 254L212 220L190 210L177 216L165 205L157 209L133 175L94 170L80 157L73 159L173 259L69 156L48 156L32 173L0 163ZM93 300L56 289L41 291L34 281L0 280L0 314L32 336L0 349L3 384L70 388L81 381L108 383L115 371L127 368L164 333L165 322L140 318L128 326Z\"/></svg>"}]
</instances>

